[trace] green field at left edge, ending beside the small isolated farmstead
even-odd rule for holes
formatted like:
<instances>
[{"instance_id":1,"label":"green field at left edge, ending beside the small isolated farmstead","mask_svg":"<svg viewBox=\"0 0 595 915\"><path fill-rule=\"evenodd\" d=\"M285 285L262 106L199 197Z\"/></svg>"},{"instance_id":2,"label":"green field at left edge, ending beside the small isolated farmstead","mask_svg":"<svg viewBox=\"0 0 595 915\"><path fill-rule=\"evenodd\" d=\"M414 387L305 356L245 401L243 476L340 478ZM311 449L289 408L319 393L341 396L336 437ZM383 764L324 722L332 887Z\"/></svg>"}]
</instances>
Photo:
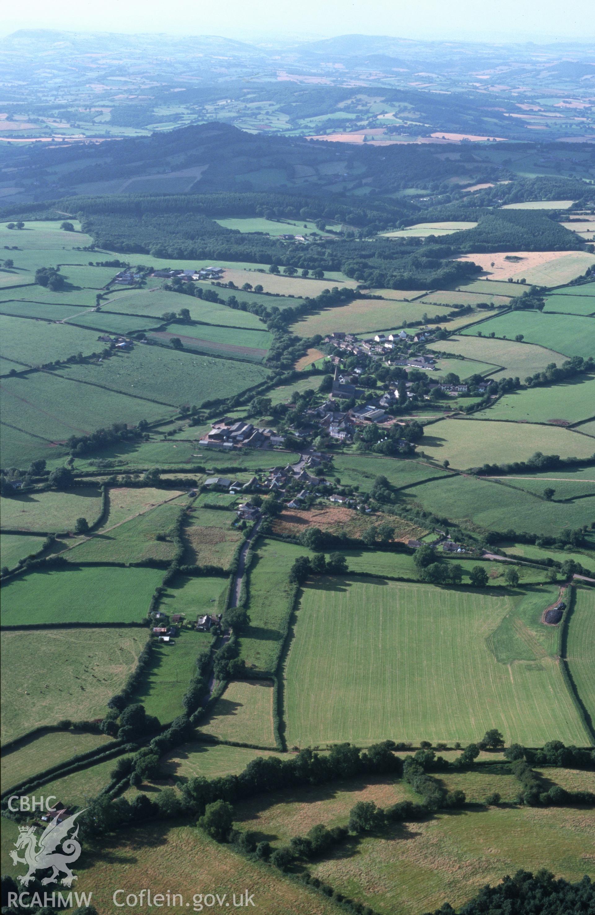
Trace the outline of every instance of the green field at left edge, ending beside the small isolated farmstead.
<instances>
[{"instance_id":1,"label":"green field at left edge, ending beside the small isolated farmstead","mask_svg":"<svg viewBox=\"0 0 595 915\"><path fill-rule=\"evenodd\" d=\"M102 344L97 342L97 334L92 330L6 315L0 315L0 340L3 356L31 366L65 360L79 352L89 356L102 350Z\"/></svg>"}]
</instances>

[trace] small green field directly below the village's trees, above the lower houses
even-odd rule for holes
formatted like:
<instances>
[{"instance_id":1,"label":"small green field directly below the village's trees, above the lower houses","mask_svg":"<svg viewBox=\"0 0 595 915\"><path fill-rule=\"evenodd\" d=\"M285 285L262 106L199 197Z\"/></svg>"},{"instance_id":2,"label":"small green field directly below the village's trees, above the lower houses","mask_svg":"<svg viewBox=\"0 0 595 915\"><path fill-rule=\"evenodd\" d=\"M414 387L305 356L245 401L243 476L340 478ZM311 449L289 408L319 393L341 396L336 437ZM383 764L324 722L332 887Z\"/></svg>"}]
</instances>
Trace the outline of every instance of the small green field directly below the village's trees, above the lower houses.
<instances>
[{"instance_id":1,"label":"small green field directly below the village's trees, above the lower houses","mask_svg":"<svg viewBox=\"0 0 595 915\"><path fill-rule=\"evenodd\" d=\"M434 426L430 426L432 428ZM424 479L449 476L447 470L430 467L421 461L383 458L380 455L335 455L332 467L337 482L341 480L342 486L359 486L362 491L372 490L376 477L386 477L398 489Z\"/></svg>"}]
</instances>

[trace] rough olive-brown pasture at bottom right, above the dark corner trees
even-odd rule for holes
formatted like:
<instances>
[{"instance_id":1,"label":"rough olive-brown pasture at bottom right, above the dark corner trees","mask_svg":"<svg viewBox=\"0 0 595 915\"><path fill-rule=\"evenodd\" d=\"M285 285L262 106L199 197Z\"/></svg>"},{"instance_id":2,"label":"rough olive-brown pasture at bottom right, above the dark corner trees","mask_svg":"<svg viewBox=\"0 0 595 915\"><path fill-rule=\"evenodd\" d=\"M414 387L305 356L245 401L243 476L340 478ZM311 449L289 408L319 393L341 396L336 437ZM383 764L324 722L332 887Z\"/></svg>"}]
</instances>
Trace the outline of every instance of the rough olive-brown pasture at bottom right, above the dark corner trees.
<instances>
[{"instance_id":1,"label":"rough olive-brown pasture at bottom right, above the dark corner trees","mask_svg":"<svg viewBox=\"0 0 595 915\"><path fill-rule=\"evenodd\" d=\"M456 816L436 813L423 823L362 838L352 856L339 847L311 872L381 915L420 915L447 901L459 910L487 883L498 884L519 868L535 874L545 867L579 881L594 827L588 808L504 805Z\"/></svg>"}]
</instances>

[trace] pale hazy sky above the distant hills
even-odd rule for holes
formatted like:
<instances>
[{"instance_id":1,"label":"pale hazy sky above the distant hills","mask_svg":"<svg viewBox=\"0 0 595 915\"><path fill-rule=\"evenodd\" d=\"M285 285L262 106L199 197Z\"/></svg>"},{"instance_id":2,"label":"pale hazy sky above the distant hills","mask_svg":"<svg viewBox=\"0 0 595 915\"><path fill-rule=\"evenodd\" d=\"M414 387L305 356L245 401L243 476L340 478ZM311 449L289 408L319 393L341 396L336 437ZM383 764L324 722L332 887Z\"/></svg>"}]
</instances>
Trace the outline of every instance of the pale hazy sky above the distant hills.
<instances>
[{"instance_id":1,"label":"pale hazy sky above the distant hills","mask_svg":"<svg viewBox=\"0 0 595 915\"><path fill-rule=\"evenodd\" d=\"M19 0L16 28L222 35L246 41L361 33L399 38L551 41L595 38L592 0Z\"/></svg>"}]
</instances>

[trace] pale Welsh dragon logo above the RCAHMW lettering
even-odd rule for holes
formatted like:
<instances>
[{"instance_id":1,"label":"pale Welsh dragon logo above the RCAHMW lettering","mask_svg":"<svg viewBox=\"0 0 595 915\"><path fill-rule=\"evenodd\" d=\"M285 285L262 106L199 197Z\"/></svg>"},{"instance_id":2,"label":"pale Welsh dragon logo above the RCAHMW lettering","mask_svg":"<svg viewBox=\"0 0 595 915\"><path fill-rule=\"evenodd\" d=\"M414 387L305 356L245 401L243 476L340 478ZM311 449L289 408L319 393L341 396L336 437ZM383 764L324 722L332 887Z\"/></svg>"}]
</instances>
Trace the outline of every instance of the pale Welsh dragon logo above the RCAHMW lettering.
<instances>
[{"instance_id":1,"label":"pale Welsh dragon logo above the RCAHMW lettering","mask_svg":"<svg viewBox=\"0 0 595 915\"><path fill-rule=\"evenodd\" d=\"M61 823L55 820L49 823L39 836L35 834L35 826L19 826L18 838L16 839L16 848L25 849L25 857L19 857L16 851L11 851L10 856L13 859L13 865L26 864L28 867L27 874L16 879L23 886L27 887L33 879L36 870L45 870L47 867L52 868L49 877L44 877L41 881L45 887L49 883L58 883L59 874L64 874L60 883L64 887L71 887L72 881L77 880L69 865L72 864L81 855L81 845L76 841L79 834L79 824L74 823L79 813L73 813ZM70 829L76 825L76 832L69 836ZM39 841L39 847L37 847ZM58 846L62 845L61 851L57 851Z\"/></svg>"}]
</instances>

